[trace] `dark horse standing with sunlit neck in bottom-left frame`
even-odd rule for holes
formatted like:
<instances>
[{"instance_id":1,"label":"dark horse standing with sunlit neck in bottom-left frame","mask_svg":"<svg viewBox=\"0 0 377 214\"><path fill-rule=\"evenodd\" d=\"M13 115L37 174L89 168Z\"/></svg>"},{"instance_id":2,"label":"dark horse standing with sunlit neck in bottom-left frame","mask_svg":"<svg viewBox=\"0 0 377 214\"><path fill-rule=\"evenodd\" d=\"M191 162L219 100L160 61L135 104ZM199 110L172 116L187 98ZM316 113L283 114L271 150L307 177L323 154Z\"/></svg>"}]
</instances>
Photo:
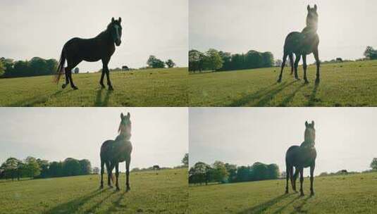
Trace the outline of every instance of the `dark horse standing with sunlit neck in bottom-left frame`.
<instances>
[{"instance_id":1,"label":"dark horse standing with sunlit neck in bottom-left frame","mask_svg":"<svg viewBox=\"0 0 377 214\"><path fill-rule=\"evenodd\" d=\"M111 181L113 181L112 171L115 167L116 170L116 190L119 189L118 177L119 177L119 163L125 161L125 185L126 191L130 191L130 162L131 162L131 152L132 144L131 138L131 120L130 113L127 115L120 114L120 125L118 129L119 135L115 140L107 140L101 146L101 186L104 188L104 166L106 165L108 180L107 184L111 186Z\"/></svg>"}]
</instances>

